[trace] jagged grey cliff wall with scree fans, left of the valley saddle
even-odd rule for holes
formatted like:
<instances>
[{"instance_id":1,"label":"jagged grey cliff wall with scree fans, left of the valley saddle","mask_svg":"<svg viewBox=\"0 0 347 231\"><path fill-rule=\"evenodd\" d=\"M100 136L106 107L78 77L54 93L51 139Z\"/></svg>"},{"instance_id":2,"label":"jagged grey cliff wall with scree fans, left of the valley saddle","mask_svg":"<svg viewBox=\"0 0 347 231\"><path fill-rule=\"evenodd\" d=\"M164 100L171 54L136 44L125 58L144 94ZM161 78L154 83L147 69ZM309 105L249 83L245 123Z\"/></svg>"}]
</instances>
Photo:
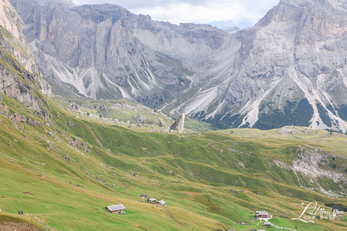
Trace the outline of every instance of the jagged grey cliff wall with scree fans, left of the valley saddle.
<instances>
[{"instance_id":1,"label":"jagged grey cliff wall with scree fans, left of the valley saddle","mask_svg":"<svg viewBox=\"0 0 347 231\"><path fill-rule=\"evenodd\" d=\"M153 21L112 4L11 3L25 23L24 32L42 73L98 99L141 98L153 90L159 93L157 98L176 98L190 86L193 74L177 55L211 55L227 35L207 25Z\"/></svg>"}]
</instances>

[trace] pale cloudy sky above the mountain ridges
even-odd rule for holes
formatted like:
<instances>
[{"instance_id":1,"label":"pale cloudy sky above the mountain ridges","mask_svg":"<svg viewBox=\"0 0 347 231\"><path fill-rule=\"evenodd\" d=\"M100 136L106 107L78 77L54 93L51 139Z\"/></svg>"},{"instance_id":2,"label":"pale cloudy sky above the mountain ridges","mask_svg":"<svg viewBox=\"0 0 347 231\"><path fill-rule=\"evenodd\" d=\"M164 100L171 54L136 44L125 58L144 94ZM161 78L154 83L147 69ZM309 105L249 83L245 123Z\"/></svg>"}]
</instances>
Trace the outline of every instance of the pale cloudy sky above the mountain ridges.
<instances>
[{"instance_id":1,"label":"pale cloudy sky above the mountain ridges","mask_svg":"<svg viewBox=\"0 0 347 231\"><path fill-rule=\"evenodd\" d=\"M76 5L113 3L134 14L170 23L247 19L255 24L279 0L72 0Z\"/></svg>"}]
</instances>

